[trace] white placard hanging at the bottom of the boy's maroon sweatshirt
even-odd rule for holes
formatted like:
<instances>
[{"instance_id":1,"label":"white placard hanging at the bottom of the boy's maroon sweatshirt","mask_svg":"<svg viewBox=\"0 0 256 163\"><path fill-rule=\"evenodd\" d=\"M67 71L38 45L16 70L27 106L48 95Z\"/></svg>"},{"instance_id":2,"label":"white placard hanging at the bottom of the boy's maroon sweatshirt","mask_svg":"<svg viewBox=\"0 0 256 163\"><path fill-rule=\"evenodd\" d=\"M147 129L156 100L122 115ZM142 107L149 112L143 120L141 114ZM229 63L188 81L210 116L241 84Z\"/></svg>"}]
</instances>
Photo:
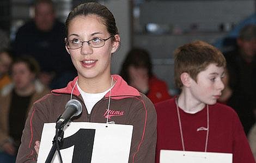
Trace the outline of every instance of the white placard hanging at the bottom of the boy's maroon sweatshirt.
<instances>
[{"instance_id":1,"label":"white placard hanging at the bottom of the boy's maroon sweatshirt","mask_svg":"<svg viewBox=\"0 0 256 163\"><path fill-rule=\"evenodd\" d=\"M160 163L232 163L231 153L161 150Z\"/></svg>"}]
</instances>

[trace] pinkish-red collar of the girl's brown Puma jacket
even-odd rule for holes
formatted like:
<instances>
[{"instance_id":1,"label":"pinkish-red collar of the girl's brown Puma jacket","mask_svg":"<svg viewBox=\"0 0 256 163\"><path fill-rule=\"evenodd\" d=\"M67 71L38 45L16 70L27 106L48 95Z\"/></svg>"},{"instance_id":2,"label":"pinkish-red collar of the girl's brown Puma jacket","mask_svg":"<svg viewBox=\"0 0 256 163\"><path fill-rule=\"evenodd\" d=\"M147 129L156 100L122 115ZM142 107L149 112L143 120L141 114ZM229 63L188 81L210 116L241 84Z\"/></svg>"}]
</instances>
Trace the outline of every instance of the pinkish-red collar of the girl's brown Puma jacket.
<instances>
[{"instance_id":1,"label":"pinkish-red collar of the girl's brown Puma jacket","mask_svg":"<svg viewBox=\"0 0 256 163\"><path fill-rule=\"evenodd\" d=\"M121 78L119 75L114 74L112 75L113 79L117 81L114 85L114 87L111 90L111 98L112 99L123 99L128 97L135 97L135 96L141 96L139 91L136 90L134 87L129 86L123 78ZM76 77L74 80L69 82L69 84L64 87L63 89L57 89L52 90L52 93L63 93L63 94L71 94L72 89L74 88L72 94L79 96L80 92L77 88L76 81L78 77ZM109 92L105 95L105 98L109 97Z\"/></svg>"}]
</instances>

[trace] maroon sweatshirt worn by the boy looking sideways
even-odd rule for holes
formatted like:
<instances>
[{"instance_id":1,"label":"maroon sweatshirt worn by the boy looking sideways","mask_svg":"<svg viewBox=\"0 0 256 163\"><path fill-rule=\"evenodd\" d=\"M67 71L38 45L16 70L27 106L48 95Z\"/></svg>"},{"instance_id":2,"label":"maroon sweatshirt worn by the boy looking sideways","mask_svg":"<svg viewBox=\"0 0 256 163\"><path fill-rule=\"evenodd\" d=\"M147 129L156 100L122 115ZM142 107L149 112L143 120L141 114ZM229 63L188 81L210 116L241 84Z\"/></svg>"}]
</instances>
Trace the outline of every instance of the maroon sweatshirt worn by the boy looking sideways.
<instances>
[{"instance_id":1,"label":"maroon sweatshirt worn by the boy looking sideways","mask_svg":"<svg viewBox=\"0 0 256 163\"><path fill-rule=\"evenodd\" d=\"M157 112L156 162L161 149L182 151L175 98L155 105ZM205 150L207 128L206 108L189 114L179 108L185 151ZM236 112L229 106L209 105L209 140L207 152L232 153L233 163L255 163L251 148Z\"/></svg>"}]
</instances>

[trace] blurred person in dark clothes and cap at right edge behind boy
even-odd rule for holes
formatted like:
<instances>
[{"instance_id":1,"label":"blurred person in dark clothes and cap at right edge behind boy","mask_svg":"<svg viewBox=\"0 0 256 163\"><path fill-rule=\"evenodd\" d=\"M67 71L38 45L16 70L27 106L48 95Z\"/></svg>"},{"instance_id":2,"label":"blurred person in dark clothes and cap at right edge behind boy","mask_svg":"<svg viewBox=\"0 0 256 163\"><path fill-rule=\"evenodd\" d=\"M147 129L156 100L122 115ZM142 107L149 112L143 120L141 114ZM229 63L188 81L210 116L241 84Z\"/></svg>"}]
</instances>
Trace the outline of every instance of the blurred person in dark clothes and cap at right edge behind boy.
<instances>
[{"instance_id":1,"label":"blurred person in dark clothes and cap at right edge behind boy","mask_svg":"<svg viewBox=\"0 0 256 163\"><path fill-rule=\"evenodd\" d=\"M237 48L224 54L232 95L227 105L235 109L245 133L255 122L256 109L256 25L243 27L236 40Z\"/></svg>"}]
</instances>

